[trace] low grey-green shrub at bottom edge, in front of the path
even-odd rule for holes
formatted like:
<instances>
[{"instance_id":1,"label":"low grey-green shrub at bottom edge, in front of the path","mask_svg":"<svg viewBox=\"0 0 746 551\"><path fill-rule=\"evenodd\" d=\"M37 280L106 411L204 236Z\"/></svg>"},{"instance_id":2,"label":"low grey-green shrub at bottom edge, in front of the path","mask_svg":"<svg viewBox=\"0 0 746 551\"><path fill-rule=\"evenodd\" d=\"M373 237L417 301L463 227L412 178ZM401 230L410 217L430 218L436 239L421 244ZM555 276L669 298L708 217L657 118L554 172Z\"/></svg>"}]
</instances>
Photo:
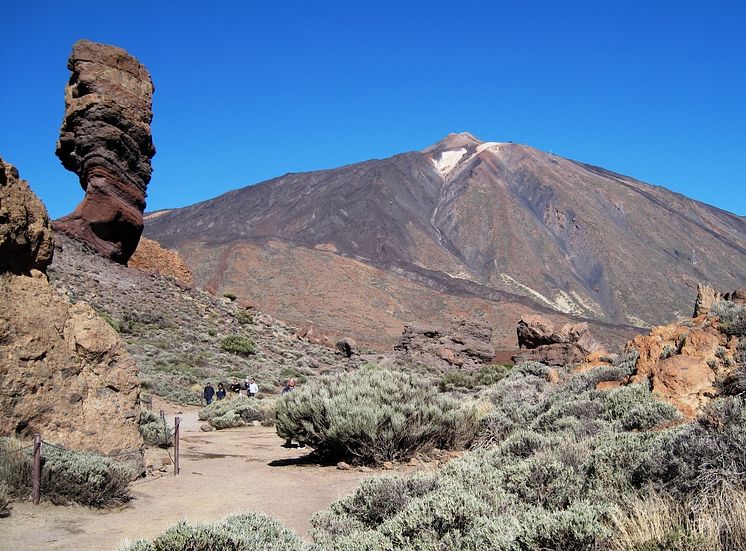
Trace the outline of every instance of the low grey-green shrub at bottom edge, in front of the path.
<instances>
[{"instance_id":1,"label":"low grey-green shrub at bottom edge, in front of the path","mask_svg":"<svg viewBox=\"0 0 746 551\"><path fill-rule=\"evenodd\" d=\"M255 513L225 517L211 524L179 522L152 542L125 542L118 551L299 551L303 542L276 520Z\"/></svg>"}]
</instances>

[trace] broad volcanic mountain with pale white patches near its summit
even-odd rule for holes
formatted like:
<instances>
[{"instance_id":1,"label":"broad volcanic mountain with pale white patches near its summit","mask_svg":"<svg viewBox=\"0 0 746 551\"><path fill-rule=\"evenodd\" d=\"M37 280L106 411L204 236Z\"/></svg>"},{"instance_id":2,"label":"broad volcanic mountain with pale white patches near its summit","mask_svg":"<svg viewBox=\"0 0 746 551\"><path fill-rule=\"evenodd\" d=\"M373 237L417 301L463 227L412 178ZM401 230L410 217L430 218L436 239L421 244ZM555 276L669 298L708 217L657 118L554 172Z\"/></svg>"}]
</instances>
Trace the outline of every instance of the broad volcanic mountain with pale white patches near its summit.
<instances>
[{"instance_id":1,"label":"broad volcanic mountain with pale white patches near its summit","mask_svg":"<svg viewBox=\"0 0 746 551\"><path fill-rule=\"evenodd\" d=\"M514 144L450 134L424 151L285 176L146 217L195 283L388 346L405 323L522 313L612 341L689 315L698 282L746 285L746 219Z\"/></svg>"}]
</instances>

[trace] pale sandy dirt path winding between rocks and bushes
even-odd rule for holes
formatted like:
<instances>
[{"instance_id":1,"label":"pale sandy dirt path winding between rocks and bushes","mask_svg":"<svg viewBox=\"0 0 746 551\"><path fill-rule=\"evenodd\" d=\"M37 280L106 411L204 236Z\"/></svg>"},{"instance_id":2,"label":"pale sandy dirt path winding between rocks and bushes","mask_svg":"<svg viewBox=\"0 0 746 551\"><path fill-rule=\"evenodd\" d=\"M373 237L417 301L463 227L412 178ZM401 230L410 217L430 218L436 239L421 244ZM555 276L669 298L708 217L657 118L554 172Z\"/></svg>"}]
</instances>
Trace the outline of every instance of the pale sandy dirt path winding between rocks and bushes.
<instances>
[{"instance_id":1,"label":"pale sandy dirt path winding between rocks and bushes","mask_svg":"<svg viewBox=\"0 0 746 551\"><path fill-rule=\"evenodd\" d=\"M273 428L201 432L196 409L181 417L180 476L133 485L133 501L114 511L15 503L0 519L0 550L115 549L182 519L214 521L239 511L266 513L305 534L313 513L369 476L299 464L308 452L283 448Z\"/></svg>"}]
</instances>

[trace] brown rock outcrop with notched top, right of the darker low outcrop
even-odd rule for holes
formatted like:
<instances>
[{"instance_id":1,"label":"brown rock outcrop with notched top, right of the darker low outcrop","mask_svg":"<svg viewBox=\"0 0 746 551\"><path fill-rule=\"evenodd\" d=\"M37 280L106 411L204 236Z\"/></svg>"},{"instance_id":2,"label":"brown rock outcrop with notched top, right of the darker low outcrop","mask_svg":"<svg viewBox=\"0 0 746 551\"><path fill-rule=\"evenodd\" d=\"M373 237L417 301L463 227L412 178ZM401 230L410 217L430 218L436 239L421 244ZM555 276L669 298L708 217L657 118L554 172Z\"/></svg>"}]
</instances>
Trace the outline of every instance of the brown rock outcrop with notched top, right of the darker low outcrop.
<instances>
[{"instance_id":1,"label":"brown rock outcrop with notched top, right of the darker low outcrop","mask_svg":"<svg viewBox=\"0 0 746 551\"><path fill-rule=\"evenodd\" d=\"M587 323L567 323L555 329L543 316L525 315L516 329L518 347L513 362L541 362L550 366L571 365L583 361L601 345L593 338Z\"/></svg>"}]
</instances>

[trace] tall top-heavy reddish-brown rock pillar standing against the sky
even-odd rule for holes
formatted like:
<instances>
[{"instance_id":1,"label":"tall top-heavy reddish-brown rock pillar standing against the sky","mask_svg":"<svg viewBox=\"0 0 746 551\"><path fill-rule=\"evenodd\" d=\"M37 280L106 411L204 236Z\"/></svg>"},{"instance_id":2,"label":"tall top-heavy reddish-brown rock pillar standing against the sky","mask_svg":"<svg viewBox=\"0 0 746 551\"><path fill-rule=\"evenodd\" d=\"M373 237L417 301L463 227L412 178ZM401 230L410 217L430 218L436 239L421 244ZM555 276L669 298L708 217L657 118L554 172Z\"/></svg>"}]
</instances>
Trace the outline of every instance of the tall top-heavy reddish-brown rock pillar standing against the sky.
<instances>
[{"instance_id":1,"label":"tall top-heavy reddish-brown rock pillar standing against the sky","mask_svg":"<svg viewBox=\"0 0 746 551\"><path fill-rule=\"evenodd\" d=\"M54 227L126 264L142 233L155 155L153 82L123 49L87 40L75 43L68 68L72 75L56 153L78 175L86 195Z\"/></svg>"}]
</instances>

